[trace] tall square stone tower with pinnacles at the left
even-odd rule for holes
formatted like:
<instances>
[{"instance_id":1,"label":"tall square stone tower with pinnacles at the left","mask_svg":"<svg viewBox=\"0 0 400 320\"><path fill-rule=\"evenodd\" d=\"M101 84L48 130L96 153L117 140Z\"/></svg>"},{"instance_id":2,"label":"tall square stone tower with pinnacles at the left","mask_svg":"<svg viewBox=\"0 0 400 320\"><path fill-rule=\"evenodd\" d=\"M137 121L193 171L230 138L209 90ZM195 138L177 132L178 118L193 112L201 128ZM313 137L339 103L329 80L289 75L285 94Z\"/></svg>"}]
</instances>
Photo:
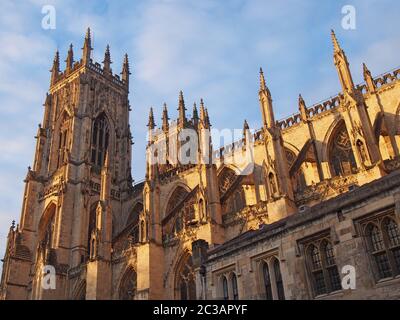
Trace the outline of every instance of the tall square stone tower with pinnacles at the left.
<instances>
[{"instance_id":1,"label":"tall square stone tower with pinnacles at the left","mask_svg":"<svg viewBox=\"0 0 400 320\"><path fill-rule=\"evenodd\" d=\"M101 66L91 42L88 29L82 58L74 61L71 45L63 72L55 55L21 221L8 236L2 298L111 298L114 220L132 188L129 63L125 56L121 78L114 75L109 46ZM51 290L42 286L45 266L55 271ZM74 271L86 278L80 293L72 292Z\"/></svg>"}]
</instances>

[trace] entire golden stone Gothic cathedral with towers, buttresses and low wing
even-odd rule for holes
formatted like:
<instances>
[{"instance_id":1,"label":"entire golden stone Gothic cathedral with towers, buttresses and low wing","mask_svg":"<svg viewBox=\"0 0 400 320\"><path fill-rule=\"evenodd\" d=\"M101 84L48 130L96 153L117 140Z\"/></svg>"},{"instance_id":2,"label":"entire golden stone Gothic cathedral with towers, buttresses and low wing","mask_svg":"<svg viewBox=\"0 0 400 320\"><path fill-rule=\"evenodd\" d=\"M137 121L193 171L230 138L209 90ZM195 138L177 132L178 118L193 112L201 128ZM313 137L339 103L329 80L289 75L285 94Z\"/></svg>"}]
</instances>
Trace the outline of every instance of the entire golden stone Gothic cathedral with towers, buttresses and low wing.
<instances>
[{"instance_id":1,"label":"entire golden stone Gothic cathedral with towers, buttresses and low wing","mask_svg":"<svg viewBox=\"0 0 400 320\"><path fill-rule=\"evenodd\" d=\"M331 36L341 92L276 120L260 69L261 129L229 145L202 99L159 127L151 109L140 183L128 56L93 61L90 29L63 71L56 52L0 298L399 299L400 69L356 85Z\"/></svg>"}]
</instances>

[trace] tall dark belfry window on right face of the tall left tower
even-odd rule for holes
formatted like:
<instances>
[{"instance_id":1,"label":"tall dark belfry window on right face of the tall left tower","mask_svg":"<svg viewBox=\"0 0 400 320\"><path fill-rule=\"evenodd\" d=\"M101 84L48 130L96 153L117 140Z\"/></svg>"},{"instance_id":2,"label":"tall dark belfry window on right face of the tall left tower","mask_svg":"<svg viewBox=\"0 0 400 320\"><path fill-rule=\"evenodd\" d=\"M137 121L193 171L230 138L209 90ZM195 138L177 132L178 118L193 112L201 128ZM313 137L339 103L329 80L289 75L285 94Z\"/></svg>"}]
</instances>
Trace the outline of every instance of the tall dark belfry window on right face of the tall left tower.
<instances>
[{"instance_id":1,"label":"tall dark belfry window on right face of the tall left tower","mask_svg":"<svg viewBox=\"0 0 400 320\"><path fill-rule=\"evenodd\" d=\"M109 136L108 122L102 114L94 121L92 131L91 162L98 167L102 167L104 164Z\"/></svg>"}]
</instances>

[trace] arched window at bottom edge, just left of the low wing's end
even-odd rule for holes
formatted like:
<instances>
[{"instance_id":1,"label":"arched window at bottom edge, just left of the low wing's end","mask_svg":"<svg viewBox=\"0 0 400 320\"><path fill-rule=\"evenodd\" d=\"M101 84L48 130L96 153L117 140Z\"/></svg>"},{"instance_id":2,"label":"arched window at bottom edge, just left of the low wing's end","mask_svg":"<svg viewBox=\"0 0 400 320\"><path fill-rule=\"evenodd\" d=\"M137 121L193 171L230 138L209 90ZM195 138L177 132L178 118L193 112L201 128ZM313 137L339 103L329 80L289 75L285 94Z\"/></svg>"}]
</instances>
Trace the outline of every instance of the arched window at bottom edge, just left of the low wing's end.
<instances>
[{"instance_id":1,"label":"arched window at bottom edge, just left of the low wing's end","mask_svg":"<svg viewBox=\"0 0 400 320\"><path fill-rule=\"evenodd\" d=\"M192 257L186 259L177 272L177 290L181 300L196 300L196 282Z\"/></svg>"}]
</instances>

